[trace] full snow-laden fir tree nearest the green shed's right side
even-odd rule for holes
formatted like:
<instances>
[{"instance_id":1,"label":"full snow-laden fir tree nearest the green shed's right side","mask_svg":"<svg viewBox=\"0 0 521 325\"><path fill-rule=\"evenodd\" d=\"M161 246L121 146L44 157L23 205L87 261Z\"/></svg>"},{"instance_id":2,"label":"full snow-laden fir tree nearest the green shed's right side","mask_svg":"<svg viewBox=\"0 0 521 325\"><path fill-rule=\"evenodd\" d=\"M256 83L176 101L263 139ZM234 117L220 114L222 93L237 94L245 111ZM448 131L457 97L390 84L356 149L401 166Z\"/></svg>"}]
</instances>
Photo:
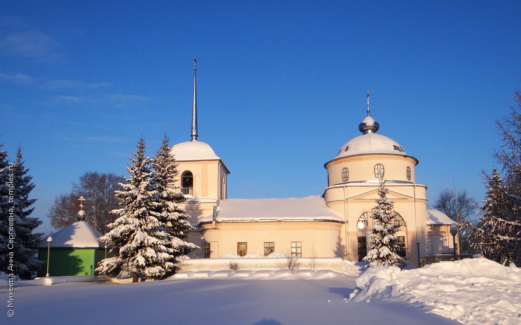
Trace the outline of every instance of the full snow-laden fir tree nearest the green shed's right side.
<instances>
[{"instance_id":1,"label":"full snow-laden fir tree nearest the green shed's right side","mask_svg":"<svg viewBox=\"0 0 521 325\"><path fill-rule=\"evenodd\" d=\"M105 258L96 269L100 274L118 276L130 272L133 282L139 275L163 278L175 270L171 255L170 236L161 221L163 216L153 189L150 158L145 157L145 141L141 138L134 158L130 158L130 174L121 191L115 191L121 209L114 210L118 218L108 225L111 229L100 240L107 244L114 257Z\"/></svg>"}]
</instances>

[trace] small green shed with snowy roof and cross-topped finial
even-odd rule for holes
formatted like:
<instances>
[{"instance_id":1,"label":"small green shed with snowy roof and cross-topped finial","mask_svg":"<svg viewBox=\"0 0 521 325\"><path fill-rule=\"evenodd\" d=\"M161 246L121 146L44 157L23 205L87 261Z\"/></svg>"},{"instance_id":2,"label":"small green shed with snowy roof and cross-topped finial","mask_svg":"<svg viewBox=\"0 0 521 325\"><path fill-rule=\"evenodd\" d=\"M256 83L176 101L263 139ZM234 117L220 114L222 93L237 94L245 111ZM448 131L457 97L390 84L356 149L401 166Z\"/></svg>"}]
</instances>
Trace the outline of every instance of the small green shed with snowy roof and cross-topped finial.
<instances>
[{"instance_id":1,"label":"small green shed with snowy roof and cross-topped finial","mask_svg":"<svg viewBox=\"0 0 521 325\"><path fill-rule=\"evenodd\" d=\"M40 241L38 245L38 258L43 261L39 277L47 274L47 253L49 255L49 276L94 276L97 264L106 257L107 250L104 243L98 238L102 233L85 222L85 212L80 210L78 221L69 225L50 237ZM47 248L50 246L49 251Z\"/></svg>"}]
</instances>

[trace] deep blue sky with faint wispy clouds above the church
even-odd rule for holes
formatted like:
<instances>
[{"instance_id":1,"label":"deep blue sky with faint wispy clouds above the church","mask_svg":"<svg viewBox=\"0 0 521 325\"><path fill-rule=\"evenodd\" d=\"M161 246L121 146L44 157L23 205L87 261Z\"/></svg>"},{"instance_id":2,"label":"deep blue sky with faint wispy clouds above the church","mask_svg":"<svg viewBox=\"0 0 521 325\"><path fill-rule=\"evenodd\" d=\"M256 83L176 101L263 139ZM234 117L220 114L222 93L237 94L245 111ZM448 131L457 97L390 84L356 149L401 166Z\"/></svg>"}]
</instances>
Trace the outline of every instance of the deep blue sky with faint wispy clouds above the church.
<instances>
[{"instance_id":1,"label":"deep blue sky with faint wispy clouds above the church","mask_svg":"<svg viewBox=\"0 0 521 325\"><path fill-rule=\"evenodd\" d=\"M366 92L416 181L485 195L494 120L521 89L521 2L17 1L0 9L0 142L22 147L48 231L87 171L126 175L143 135L199 140L230 198L321 195L323 165L358 136Z\"/></svg>"}]
</instances>

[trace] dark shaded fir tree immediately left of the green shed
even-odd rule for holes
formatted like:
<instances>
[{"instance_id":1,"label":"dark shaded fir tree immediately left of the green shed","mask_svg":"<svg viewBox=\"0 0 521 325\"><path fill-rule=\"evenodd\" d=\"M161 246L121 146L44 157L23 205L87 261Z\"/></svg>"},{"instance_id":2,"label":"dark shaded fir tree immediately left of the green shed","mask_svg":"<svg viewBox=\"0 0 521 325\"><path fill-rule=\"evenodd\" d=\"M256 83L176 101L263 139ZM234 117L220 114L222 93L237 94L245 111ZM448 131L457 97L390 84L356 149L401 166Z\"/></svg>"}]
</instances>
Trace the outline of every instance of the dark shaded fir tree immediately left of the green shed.
<instances>
[{"instance_id":1,"label":"dark shaded fir tree immediately left of the green shed","mask_svg":"<svg viewBox=\"0 0 521 325\"><path fill-rule=\"evenodd\" d=\"M14 230L16 233L14 270L21 278L27 279L36 275L36 271L42 266L42 262L35 258L34 255L43 233L33 233L34 229L42 224L42 221L39 218L29 216L34 210L34 207L31 206L36 200L29 198L29 194L34 189L34 183L31 182L32 176L27 174L29 168L25 168L23 165L21 148L18 148L16 153L16 161L12 172L15 193L13 202L15 215Z\"/></svg>"}]
</instances>

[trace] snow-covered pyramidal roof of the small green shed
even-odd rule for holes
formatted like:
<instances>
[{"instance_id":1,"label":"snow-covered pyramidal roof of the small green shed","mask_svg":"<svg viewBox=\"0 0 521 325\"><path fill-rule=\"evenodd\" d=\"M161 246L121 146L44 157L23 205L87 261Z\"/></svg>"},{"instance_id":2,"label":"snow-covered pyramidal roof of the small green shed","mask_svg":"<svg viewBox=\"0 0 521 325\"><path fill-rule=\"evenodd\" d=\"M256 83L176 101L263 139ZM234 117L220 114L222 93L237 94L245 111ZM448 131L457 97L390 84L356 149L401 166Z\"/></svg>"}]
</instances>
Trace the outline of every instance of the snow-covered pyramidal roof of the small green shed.
<instances>
[{"instance_id":1,"label":"snow-covered pyramidal roof of the small green shed","mask_svg":"<svg viewBox=\"0 0 521 325\"><path fill-rule=\"evenodd\" d=\"M102 233L84 221L77 221L72 225L56 231L51 235L54 248L104 248L105 244L98 241ZM47 248L47 237L38 244L40 248Z\"/></svg>"}]
</instances>

